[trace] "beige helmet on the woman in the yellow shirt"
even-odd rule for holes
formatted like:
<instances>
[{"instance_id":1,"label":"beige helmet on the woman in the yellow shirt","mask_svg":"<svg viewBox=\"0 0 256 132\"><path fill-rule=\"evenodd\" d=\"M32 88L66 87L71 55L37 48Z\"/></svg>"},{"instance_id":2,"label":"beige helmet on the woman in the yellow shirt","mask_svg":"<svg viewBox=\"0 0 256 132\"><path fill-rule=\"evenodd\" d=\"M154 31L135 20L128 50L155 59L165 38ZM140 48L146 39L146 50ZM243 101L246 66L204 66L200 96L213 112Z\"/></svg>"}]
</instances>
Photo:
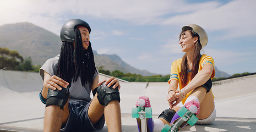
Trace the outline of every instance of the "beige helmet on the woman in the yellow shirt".
<instances>
[{"instance_id":1,"label":"beige helmet on the woman in the yellow shirt","mask_svg":"<svg viewBox=\"0 0 256 132\"><path fill-rule=\"evenodd\" d=\"M208 36L207 36L205 30L201 26L198 26L196 24L188 24L188 25L182 27L182 31L184 31L186 29L190 29L190 30L192 29L194 32L196 32L199 35L199 39L200 39L202 48L204 48L204 46L207 45Z\"/></svg>"}]
</instances>

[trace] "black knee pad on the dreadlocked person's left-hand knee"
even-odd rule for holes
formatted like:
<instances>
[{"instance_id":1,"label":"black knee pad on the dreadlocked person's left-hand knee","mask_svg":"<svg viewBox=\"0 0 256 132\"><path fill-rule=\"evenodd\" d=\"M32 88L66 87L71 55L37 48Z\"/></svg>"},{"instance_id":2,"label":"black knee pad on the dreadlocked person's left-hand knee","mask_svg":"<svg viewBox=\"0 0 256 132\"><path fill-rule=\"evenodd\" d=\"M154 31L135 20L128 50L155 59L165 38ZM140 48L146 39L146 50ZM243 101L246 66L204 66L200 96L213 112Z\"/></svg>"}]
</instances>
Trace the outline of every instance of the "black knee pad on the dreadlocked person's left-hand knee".
<instances>
[{"instance_id":1,"label":"black knee pad on the dreadlocked person's left-hand knee","mask_svg":"<svg viewBox=\"0 0 256 132\"><path fill-rule=\"evenodd\" d=\"M62 86L61 88L62 88L61 91L59 91L58 89L56 90L48 89L47 101L46 101L45 107L50 105L56 105L61 107L61 109L63 109L63 107L68 102L69 88L68 87L64 88Z\"/></svg>"}]
</instances>

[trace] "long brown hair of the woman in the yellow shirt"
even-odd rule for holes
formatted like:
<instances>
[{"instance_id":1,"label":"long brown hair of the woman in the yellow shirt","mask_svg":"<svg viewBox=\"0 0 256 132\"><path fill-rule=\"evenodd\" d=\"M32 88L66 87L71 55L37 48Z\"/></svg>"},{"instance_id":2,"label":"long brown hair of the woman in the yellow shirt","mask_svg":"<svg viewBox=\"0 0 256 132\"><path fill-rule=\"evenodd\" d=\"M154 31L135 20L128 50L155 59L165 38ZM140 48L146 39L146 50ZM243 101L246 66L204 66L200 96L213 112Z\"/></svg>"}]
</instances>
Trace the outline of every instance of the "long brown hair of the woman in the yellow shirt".
<instances>
[{"instance_id":1,"label":"long brown hair of the woman in the yellow shirt","mask_svg":"<svg viewBox=\"0 0 256 132\"><path fill-rule=\"evenodd\" d=\"M201 43L200 43L200 39L199 39L199 35L192 31L192 30L184 30L181 32L181 34L179 35L179 39L181 38L181 36L186 34L186 31L189 31L189 33L192 35L192 37L198 37L198 41L195 42L195 50L194 50L194 57L193 57L193 61L192 61L192 70L191 70L191 77L190 80L192 80L194 78L194 76L198 73L198 68L199 68L199 61L201 58L201 54L200 54L200 50L202 48ZM187 53L184 54L184 56L182 57L182 62L181 62L181 84L182 87L186 86L188 83L188 67L187 67Z\"/></svg>"}]
</instances>

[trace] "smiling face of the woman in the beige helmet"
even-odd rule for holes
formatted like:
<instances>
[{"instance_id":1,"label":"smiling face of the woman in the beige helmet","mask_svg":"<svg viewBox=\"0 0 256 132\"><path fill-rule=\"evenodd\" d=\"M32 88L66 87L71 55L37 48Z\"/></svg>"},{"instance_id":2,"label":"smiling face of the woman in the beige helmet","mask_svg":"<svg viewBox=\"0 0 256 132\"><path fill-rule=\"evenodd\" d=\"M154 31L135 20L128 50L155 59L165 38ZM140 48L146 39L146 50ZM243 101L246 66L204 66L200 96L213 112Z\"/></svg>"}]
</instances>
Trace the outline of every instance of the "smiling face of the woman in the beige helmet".
<instances>
[{"instance_id":1,"label":"smiling face of the woman in the beige helmet","mask_svg":"<svg viewBox=\"0 0 256 132\"><path fill-rule=\"evenodd\" d=\"M184 33L179 39L182 52L194 51L195 42L197 42L198 37L192 37L189 31L185 31Z\"/></svg>"}]
</instances>

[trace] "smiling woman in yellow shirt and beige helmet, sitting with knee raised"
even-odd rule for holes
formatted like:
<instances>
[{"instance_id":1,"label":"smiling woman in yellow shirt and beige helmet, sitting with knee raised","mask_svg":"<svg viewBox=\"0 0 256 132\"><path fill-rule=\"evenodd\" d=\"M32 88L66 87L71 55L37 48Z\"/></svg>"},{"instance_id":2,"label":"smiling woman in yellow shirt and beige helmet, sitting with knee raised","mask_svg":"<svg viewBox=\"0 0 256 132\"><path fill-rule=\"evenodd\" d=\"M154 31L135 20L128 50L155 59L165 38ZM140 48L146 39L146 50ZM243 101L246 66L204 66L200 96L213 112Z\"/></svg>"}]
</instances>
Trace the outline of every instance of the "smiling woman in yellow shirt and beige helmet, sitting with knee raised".
<instances>
[{"instance_id":1,"label":"smiling woman in yellow shirt and beige helmet, sitting with knee raised","mask_svg":"<svg viewBox=\"0 0 256 132\"><path fill-rule=\"evenodd\" d=\"M200 50L207 43L208 36L202 27L195 24L182 27L179 45L185 54L182 59L172 63L167 93L170 109L163 111L159 118L154 120L154 131L160 131L165 124L172 124L177 119L175 113L179 108L192 100L200 102L197 124L214 122L216 110L211 91L211 79L215 75L214 59L200 54Z\"/></svg>"}]
</instances>

